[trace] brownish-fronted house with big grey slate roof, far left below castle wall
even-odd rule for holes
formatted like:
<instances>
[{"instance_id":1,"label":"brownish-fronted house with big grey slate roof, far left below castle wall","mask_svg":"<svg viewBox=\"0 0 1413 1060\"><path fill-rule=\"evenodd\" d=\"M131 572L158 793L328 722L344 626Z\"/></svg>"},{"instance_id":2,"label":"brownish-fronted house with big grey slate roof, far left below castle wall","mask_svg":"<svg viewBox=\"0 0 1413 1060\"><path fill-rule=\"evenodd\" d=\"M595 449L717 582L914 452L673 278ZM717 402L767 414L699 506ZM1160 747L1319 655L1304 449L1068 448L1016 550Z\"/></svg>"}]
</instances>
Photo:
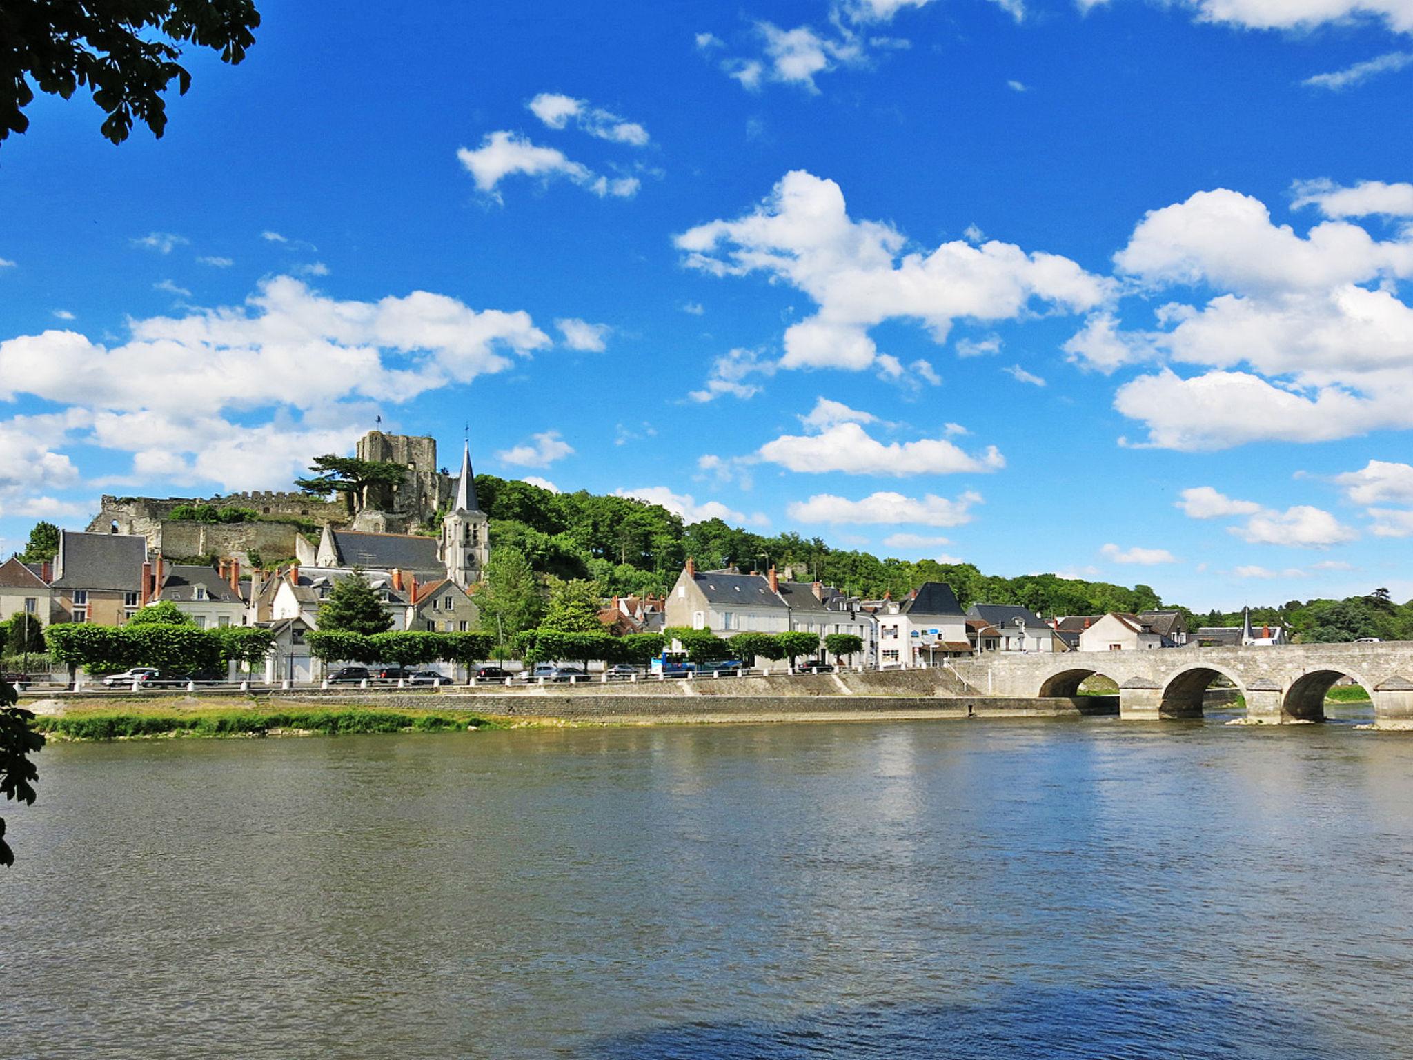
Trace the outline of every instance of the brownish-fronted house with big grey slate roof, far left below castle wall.
<instances>
[{"instance_id":1,"label":"brownish-fronted house with big grey slate roof, far left below castle wall","mask_svg":"<svg viewBox=\"0 0 1413 1060\"><path fill-rule=\"evenodd\" d=\"M147 538L141 534L61 530L51 620L123 625L144 603L146 563Z\"/></svg>"}]
</instances>

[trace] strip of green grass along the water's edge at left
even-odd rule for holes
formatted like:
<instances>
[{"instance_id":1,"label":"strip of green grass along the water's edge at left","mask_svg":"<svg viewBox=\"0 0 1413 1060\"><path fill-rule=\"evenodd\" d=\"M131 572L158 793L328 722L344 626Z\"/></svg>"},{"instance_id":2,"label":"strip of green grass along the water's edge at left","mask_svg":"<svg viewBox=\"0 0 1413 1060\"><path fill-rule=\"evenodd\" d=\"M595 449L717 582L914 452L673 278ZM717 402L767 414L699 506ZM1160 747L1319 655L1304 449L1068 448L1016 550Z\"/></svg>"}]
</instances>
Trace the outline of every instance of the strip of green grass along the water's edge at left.
<instances>
[{"instance_id":1,"label":"strip of green grass along the water's edge at left","mask_svg":"<svg viewBox=\"0 0 1413 1060\"><path fill-rule=\"evenodd\" d=\"M462 711L259 704L178 709L171 705L76 704L42 714L34 728L55 739L140 739L157 736L336 736L359 732L465 732L509 728Z\"/></svg>"}]
</instances>

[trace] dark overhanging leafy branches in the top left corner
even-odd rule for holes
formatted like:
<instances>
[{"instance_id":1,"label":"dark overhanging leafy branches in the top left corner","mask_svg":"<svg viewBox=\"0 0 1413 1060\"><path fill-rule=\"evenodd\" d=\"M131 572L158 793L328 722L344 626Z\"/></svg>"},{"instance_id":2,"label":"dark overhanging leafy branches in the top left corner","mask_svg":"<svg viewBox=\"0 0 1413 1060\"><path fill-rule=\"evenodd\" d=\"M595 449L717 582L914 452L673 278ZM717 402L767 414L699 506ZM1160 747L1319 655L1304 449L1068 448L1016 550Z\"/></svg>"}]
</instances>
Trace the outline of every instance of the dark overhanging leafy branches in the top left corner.
<instances>
[{"instance_id":1,"label":"dark overhanging leafy branches in the top left corner","mask_svg":"<svg viewBox=\"0 0 1413 1060\"><path fill-rule=\"evenodd\" d=\"M0 6L0 140L30 127L24 107L41 92L69 99L79 86L107 117L102 133L114 144L140 120L161 137L162 92L191 88L178 59L191 42L236 65L254 45L260 13L253 0L6 0Z\"/></svg>"}]
</instances>

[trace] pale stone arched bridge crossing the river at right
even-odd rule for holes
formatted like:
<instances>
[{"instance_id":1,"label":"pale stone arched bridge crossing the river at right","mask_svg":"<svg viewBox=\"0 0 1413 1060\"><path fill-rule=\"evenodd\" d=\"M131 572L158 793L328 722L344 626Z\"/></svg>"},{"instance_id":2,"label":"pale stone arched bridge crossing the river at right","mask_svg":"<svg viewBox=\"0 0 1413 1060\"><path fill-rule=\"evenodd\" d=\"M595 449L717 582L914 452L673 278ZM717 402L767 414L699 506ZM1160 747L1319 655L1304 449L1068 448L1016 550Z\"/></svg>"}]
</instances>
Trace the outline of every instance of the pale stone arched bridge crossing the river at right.
<instances>
[{"instance_id":1,"label":"pale stone arched bridge crossing the river at right","mask_svg":"<svg viewBox=\"0 0 1413 1060\"><path fill-rule=\"evenodd\" d=\"M1340 678L1362 684L1379 725L1413 728L1413 642L1176 647L1147 652L993 653L957 660L952 671L988 695L1074 695L1087 677L1119 685L1123 718L1197 718L1202 694L1228 678L1246 715L1267 722L1321 721Z\"/></svg>"}]
</instances>

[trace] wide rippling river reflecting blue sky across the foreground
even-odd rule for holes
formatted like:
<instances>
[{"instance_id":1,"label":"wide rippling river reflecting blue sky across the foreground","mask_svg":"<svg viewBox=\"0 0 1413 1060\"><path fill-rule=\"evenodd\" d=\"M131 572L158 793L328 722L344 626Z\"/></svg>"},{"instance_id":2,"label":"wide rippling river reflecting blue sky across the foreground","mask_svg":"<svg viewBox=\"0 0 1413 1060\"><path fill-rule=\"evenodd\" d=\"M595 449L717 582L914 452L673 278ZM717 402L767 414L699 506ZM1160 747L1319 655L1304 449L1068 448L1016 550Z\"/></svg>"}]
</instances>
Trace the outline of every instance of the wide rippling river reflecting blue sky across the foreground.
<instances>
[{"instance_id":1,"label":"wide rippling river reflecting blue sky across the foreground","mask_svg":"<svg viewBox=\"0 0 1413 1060\"><path fill-rule=\"evenodd\" d=\"M1413 1057L1413 734L51 745L3 1057Z\"/></svg>"}]
</instances>

